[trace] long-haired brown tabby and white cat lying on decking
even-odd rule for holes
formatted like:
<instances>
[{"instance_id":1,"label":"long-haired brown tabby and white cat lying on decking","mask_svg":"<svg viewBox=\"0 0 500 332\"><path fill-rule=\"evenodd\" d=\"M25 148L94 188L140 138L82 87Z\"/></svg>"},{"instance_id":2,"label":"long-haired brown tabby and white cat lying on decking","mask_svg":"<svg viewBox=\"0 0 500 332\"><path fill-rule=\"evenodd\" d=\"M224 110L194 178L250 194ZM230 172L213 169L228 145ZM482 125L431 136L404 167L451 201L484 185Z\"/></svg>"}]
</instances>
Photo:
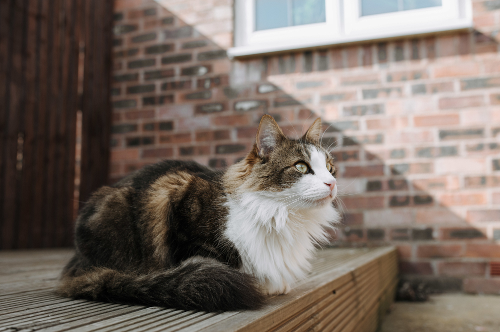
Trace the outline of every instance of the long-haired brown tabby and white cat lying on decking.
<instances>
[{"instance_id":1,"label":"long-haired brown tabby and white cat lying on decking","mask_svg":"<svg viewBox=\"0 0 500 332\"><path fill-rule=\"evenodd\" d=\"M306 276L339 213L318 118L298 139L264 115L248 155L214 171L145 166L95 191L56 292L206 311L254 309Z\"/></svg>"}]
</instances>

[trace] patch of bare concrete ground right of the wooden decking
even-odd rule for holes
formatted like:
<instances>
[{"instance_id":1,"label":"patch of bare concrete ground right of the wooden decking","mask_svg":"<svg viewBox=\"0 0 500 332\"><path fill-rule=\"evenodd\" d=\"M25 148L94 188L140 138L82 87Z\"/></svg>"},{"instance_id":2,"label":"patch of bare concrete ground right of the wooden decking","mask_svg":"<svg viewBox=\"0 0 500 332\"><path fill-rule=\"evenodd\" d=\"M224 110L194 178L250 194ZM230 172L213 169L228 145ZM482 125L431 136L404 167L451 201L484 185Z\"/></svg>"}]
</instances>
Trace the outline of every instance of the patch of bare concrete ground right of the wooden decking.
<instances>
[{"instance_id":1,"label":"patch of bare concrete ground right of the wooden decking","mask_svg":"<svg viewBox=\"0 0 500 332\"><path fill-rule=\"evenodd\" d=\"M380 332L500 331L500 296L439 294L427 302L395 302Z\"/></svg>"}]
</instances>

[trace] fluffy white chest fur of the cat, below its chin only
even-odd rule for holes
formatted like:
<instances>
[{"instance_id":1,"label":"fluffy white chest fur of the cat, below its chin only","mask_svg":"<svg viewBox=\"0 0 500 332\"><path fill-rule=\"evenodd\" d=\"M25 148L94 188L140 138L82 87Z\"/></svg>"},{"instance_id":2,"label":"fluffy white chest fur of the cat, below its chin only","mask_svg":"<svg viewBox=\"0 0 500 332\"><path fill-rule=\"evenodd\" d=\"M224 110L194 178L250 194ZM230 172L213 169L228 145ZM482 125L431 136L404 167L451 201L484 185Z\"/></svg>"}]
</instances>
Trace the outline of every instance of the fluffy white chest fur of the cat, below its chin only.
<instances>
[{"instance_id":1,"label":"fluffy white chest fur of the cat, below its chin only","mask_svg":"<svg viewBox=\"0 0 500 332\"><path fill-rule=\"evenodd\" d=\"M327 241L327 228L339 219L331 204L289 209L264 192L229 197L227 207L224 235L239 251L241 269L268 294L286 293L305 277L315 244Z\"/></svg>"}]
</instances>

